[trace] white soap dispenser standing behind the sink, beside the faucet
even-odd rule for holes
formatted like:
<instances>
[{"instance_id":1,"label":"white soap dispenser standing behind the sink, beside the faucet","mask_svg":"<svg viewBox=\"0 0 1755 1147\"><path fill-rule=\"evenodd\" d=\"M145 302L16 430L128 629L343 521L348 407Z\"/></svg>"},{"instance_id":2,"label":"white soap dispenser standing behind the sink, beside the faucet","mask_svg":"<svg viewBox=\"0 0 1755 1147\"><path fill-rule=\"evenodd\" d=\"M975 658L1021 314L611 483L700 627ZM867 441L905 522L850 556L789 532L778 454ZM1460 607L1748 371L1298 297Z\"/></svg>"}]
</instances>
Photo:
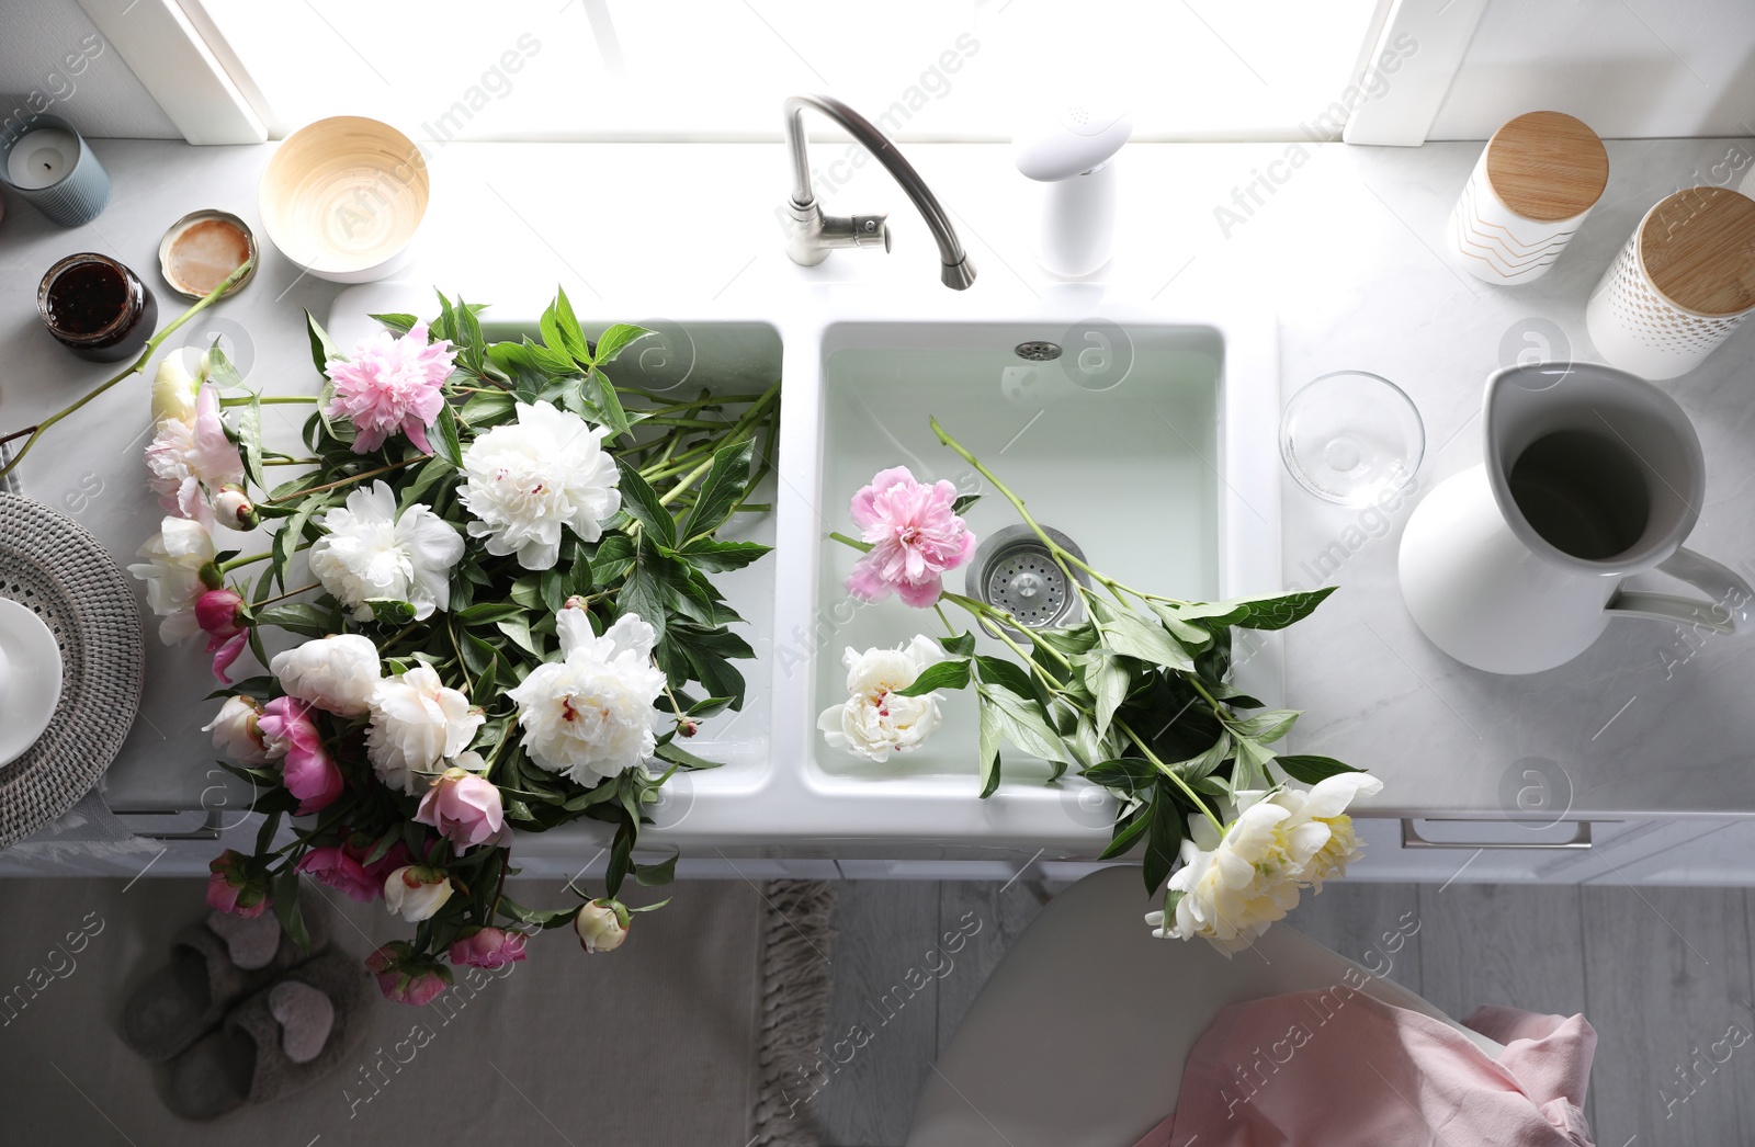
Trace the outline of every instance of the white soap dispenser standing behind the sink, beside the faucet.
<instances>
[{"instance_id":1,"label":"white soap dispenser standing behind the sink, beside the faucet","mask_svg":"<svg viewBox=\"0 0 1755 1147\"><path fill-rule=\"evenodd\" d=\"M1114 154L1134 133L1116 105L1071 102L1013 139L1018 170L1048 184L1037 261L1062 279L1083 279L1114 249Z\"/></svg>"}]
</instances>

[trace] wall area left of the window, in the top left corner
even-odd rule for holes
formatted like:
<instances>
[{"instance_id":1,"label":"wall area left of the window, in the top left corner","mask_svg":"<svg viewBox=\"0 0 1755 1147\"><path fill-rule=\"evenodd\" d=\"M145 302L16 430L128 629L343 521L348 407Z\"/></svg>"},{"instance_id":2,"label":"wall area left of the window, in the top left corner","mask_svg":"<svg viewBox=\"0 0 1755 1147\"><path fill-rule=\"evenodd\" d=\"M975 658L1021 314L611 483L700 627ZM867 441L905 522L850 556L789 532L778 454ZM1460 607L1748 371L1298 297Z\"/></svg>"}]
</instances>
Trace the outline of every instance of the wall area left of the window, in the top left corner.
<instances>
[{"instance_id":1,"label":"wall area left of the window, in the top left corner","mask_svg":"<svg viewBox=\"0 0 1755 1147\"><path fill-rule=\"evenodd\" d=\"M0 121L47 110L82 135L183 139L75 0L0 0Z\"/></svg>"}]
</instances>

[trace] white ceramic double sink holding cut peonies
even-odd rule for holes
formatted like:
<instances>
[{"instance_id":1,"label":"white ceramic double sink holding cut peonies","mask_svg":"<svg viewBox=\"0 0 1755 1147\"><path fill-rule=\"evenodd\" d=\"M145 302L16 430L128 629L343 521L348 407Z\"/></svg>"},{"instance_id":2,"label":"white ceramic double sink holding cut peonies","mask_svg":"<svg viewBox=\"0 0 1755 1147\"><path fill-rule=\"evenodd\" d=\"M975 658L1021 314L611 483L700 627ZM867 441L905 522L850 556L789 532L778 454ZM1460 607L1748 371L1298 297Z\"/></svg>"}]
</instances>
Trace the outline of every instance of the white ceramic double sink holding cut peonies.
<instances>
[{"instance_id":1,"label":"white ceramic double sink holding cut peonies","mask_svg":"<svg viewBox=\"0 0 1755 1147\"><path fill-rule=\"evenodd\" d=\"M330 331L347 346L367 312L432 312L432 293L372 284L342 293ZM493 307L490 337L535 333L537 310ZM653 317L665 316L665 317ZM491 319L491 323L488 323ZM942 447L928 419L971 449L1046 526L1123 582L1186 598L1279 588L1278 353L1271 314L1116 305L1067 291L983 310L979 291L909 300L821 291L776 314L634 305L581 316L588 335L635 321L656 337L611 367L621 384L758 391L783 379L772 514L739 517L735 537L774 545L714 581L748 619L756 661L739 714L707 721L690 749L723 761L679 773L651 810L642 844L837 858L981 856L1042 849L1095 856L1109 796L1074 777L1046 784L1046 763L1002 751L999 791L979 800L972 693L944 695L944 723L921 749L883 763L830 749L818 714L846 700L842 651L942 637L934 610L892 598L865 605L842 582L856 554L828 538L856 533L848 500L878 470L906 465L985 495L965 512L978 537L1018 523L1011 505ZM1016 347L1049 342L1058 360ZM963 570L946 577L963 591ZM958 630L969 617L946 610ZM981 637L985 652L1004 647ZM1253 635L1251 635L1253 642ZM1274 703L1278 642L1239 651L1246 687ZM597 840L577 823L548 845ZM532 842L534 844L534 842Z\"/></svg>"}]
</instances>

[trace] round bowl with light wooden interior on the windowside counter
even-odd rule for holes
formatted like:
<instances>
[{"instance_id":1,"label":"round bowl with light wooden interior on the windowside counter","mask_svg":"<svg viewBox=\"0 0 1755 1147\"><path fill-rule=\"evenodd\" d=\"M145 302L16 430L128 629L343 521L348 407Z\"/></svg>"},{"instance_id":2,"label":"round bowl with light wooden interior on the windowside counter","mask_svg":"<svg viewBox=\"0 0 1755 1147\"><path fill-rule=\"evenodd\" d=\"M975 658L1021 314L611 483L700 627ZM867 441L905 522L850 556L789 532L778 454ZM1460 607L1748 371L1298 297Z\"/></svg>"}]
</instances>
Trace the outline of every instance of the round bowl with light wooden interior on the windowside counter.
<instances>
[{"instance_id":1,"label":"round bowl with light wooden interior on the windowside counter","mask_svg":"<svg viewBox=\"0 0 1755 1147\"><path fill-rule=\"evenodd\" d=\"M372 282L407 267L430 193L419 147L386 123L335 116L298 128L261 170L261 230L330 282Z\"/></svg>"}]
</instances>

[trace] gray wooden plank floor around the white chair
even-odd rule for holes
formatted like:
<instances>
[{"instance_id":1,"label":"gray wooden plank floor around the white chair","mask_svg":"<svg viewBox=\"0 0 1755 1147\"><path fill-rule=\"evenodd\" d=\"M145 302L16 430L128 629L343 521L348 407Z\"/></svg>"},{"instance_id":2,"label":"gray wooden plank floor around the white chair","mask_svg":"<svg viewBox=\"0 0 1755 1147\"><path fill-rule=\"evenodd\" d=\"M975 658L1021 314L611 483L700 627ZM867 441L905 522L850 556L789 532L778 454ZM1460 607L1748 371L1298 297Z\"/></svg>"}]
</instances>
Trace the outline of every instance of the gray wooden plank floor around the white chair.
<instances>
[{"instance_id":1,"label":"gray wooden plank floor around the white chair","mask_svg":"<svg viewBox=\"0 0 1755 1147\"><path fill-rule=\"evenodd\" d=\"M816 1096L825 1147L906 1140L932 1061L1048 894L1028 879L841 884L828 1040L860 1022L874 1035ZM1451 1015L1483 1003L1583 1012L1599 1035L1587 1098L1597 1147L1730 1147L1755 1143L1751 894L1330 884L1295 924ZM1418 919L1418 933L1381 951L1378 937L1404 919ZM958 928L962 952L937 952ZM911 968L925 987L879 1012ZM1053 1065L1042 1066L1051 1080Z\"/></svg>"}]
</instances>

